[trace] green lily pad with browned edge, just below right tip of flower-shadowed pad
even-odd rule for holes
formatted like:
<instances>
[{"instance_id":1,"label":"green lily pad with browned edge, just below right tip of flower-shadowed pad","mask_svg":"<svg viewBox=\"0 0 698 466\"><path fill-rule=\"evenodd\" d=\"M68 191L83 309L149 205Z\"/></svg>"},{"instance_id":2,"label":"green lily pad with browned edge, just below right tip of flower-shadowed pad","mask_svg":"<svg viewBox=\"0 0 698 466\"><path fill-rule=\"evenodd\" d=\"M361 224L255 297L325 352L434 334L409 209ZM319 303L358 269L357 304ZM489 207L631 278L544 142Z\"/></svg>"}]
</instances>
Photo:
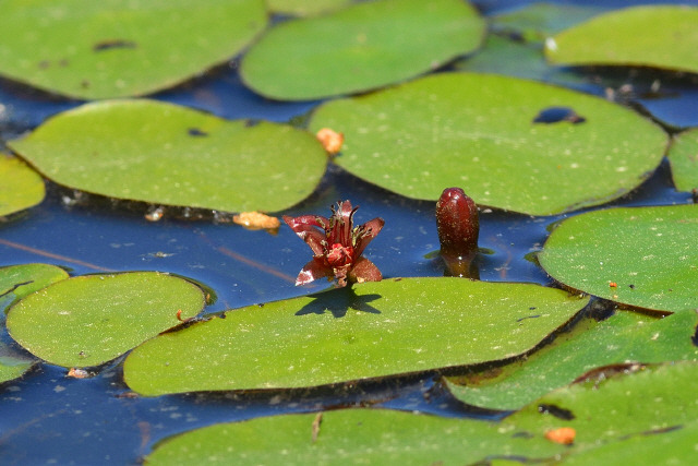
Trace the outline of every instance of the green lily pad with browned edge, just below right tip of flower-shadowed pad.
<instances>
[{"instance_id":1,"label":"green lily pad with browned edge, just below right tip of flower-shadowed pad","mask_svg":"<svg viewBox=\"0 0 698 466\"><path fill-rule=\"evenodd\" d=\"M526 360L446 379L446 383L464 403L492 409L519 409L599 367L698 361L698 347L691 340L697 324L694 312L657 319L621 311L602 322L588 319Z\"/></svg>"}]
</instances>

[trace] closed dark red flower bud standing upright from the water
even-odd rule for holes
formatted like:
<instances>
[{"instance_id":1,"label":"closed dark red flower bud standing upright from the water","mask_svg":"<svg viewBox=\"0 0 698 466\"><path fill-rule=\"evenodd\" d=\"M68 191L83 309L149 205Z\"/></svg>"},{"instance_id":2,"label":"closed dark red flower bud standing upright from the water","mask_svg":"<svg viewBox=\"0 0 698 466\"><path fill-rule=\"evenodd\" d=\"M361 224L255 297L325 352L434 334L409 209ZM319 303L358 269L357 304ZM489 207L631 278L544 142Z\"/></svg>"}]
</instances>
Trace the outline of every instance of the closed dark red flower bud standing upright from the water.
<instances>
[{"instance_id":1,"label":"closed dark red flower bud standing upright from the water","mask_svg":"<svg viewBox=\"0 0 698 466\"><path fill-rule=\"evenodd\" d=\"M436 229L441 255L452 275L471 276L470 264L478 253L480 220L478 206L460 188L445 189L436 203Z\"/></svg>"}]
</instances>

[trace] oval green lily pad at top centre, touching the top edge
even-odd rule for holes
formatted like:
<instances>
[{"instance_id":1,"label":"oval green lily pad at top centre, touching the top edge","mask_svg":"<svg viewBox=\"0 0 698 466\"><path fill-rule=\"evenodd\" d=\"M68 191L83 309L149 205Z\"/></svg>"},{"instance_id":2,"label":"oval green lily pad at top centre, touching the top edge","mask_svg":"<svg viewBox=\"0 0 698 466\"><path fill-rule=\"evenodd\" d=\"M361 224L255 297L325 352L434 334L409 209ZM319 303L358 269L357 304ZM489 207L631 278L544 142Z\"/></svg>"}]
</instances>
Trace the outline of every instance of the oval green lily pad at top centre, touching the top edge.
<instances>
[{"instance_id":1,"label":"oval green lily pad at top centre, touching the top edge","mask_svg":"<svg viewBox=\"0 0 698 466\"><path fill-rule=\"evenodd\" d=\"M485 23L462 0L384 0L276 25L242 60L264 96L302 100L364 92L476 49Z\"/></svg>"}]
</instances>

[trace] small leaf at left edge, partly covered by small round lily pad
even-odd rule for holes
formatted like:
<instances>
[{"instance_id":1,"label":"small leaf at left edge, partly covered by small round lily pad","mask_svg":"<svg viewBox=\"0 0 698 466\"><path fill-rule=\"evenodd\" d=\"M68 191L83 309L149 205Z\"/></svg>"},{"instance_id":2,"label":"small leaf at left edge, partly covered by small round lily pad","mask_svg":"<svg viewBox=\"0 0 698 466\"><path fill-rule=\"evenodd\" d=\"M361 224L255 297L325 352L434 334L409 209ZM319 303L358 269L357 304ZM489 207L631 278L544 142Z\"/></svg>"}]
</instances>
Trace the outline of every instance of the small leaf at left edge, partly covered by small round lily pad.
<instances>
[{"instance_id":1,"label":"small leaf at left edge, partly covered by small round lily pad","mask_svg":"<svg viewBox=\"0 0 698 466\"><path fill-rule=\"evenodd\" d=\"M0 268L0 310L52 283L68 278L68 272L49 264L22 264ZM0 313L0 316L4 312Z\"/></svg>"}]
</instances>

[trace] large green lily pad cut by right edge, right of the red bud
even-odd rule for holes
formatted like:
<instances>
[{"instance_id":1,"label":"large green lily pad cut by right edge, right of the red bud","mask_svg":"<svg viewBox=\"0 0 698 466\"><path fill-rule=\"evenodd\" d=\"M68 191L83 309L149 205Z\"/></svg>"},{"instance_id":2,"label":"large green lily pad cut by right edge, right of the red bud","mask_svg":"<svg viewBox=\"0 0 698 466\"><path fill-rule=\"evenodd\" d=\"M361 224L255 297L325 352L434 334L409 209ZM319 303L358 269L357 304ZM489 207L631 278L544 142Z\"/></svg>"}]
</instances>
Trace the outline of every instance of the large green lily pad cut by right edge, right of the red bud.
<instances>
[{"instance_id":1,"label":"large green lily pad cut by right edge, right of the red bud","mask_svg":"<svg viewBox=\"0 0 698 466\"><path fill-rule=\"evenodd\" d=\"M604 299L654 311L695 310L697 236L698 205L609 208L562 222L539 261L556 280Z\"/></svg>"}]
</instances>

